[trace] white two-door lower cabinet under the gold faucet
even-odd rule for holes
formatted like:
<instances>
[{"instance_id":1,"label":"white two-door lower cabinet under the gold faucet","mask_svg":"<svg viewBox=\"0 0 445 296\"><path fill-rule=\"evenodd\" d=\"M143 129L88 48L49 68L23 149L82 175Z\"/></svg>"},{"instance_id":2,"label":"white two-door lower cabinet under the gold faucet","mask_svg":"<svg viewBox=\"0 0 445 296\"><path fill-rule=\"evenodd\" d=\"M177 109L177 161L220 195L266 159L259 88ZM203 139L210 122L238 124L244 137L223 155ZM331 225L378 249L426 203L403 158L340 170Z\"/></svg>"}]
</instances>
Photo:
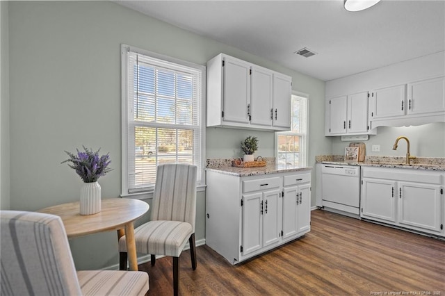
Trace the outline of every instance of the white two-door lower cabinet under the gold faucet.
<instances>
[{"instance_id":1,"label":"white two-door lower cabinet under the gold faucet","mask_svg":"<svg viewBox=\"0 0 445 296\"><path fill-rule=\"evenodd\" d=\"M444 236L445 174L362 167L360 216Z\"/></svg>"}]
</instances>

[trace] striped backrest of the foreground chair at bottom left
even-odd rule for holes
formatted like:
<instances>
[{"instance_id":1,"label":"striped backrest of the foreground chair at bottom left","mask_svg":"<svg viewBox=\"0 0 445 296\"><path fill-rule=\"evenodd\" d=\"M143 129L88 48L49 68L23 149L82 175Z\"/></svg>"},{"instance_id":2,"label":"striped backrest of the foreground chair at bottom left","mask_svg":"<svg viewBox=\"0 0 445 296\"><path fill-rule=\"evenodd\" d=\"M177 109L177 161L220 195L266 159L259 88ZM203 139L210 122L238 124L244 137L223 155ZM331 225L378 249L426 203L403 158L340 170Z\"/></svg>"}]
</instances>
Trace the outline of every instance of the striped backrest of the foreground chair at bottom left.
<instances>
[{"instance_id":1,"label":"striped backrest of the foreground chair at bottom left","mask_svg":"<svg viewBox=\"0 0 445 296\"><path fill-rule=\"evenodd\" d=\"M0 211L1 295L81 295L60 217Z\"/></svg>"}]
</instances>

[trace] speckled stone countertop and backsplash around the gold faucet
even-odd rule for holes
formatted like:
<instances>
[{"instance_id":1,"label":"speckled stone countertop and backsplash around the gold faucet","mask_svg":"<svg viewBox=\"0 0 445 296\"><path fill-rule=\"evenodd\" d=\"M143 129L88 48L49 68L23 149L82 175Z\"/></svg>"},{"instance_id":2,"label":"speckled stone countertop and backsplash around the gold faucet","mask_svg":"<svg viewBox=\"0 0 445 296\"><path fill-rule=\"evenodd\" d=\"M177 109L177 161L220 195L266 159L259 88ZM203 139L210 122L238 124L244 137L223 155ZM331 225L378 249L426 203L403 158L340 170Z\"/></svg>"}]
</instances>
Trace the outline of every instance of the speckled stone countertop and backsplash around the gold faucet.
<instances>
[{"instance_id":1,"label":"speckled stone countertop and backsplash around the gold faucet","mask_svg":"<svg viewBox=\"0 0 445 296\"><path fill-rule=\"evenodd\" d=\"M334 165L360 165L367 167L390 167L411 170L445 171L445 158L418 157L412 159L410 165L405 164L403 156L366 156L363 162L344 161L342 155L316 156L316 163Z\"/></svg>"}]
</instances>

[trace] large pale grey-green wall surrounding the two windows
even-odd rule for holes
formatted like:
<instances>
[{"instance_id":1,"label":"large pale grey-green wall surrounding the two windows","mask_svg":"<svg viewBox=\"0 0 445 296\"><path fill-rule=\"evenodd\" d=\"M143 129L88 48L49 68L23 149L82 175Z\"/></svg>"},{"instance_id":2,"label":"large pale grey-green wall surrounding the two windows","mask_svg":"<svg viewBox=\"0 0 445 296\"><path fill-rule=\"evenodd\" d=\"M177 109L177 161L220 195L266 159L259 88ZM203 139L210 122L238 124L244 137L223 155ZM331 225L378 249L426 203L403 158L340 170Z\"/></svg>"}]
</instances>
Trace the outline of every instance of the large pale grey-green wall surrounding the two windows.
<instances>
[{"instance_id":1,"label":"large pale grey-green wall surrounding the two windows","mask_svg":"<svg viewBox=\"0 0 445 296\"><path fill-rule=\"evenodd\" d=\"M67 158L64 150L81 145L110 152L114 170L99 183L103 197L120 195L121 43L201 65L224 52L293 76L293 89L309 94L309 165L314 165L316 155L330 154L331 140L324 137L321 120L323 81L113 2L14 1L8 17L12 209L35 211L76 201L81 180L60 162ZM261 155L274 155L273 133L208 128L207 157L239 156L239 142L250 134L258 135ZM197 240L204 239L204 214L205 194L200 192ZM144 220L147 215L140 222ZM70 245L78 269L118 263L115 233L76 238Z\"/></svg>"}]
</instances>

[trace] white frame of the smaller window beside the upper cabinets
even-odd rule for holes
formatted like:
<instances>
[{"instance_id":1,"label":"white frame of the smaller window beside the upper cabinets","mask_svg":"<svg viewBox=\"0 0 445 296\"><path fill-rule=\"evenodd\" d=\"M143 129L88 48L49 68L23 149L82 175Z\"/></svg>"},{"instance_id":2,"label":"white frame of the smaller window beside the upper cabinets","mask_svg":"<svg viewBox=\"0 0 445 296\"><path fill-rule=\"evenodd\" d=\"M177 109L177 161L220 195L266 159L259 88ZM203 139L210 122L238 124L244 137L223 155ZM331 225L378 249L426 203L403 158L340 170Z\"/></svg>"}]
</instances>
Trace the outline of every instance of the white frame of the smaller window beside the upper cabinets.
<instances>
[{"instance_id":1,"label":"white frame of the smaller window beside the upper cabinets","mask_svg":"<svg viewBox=\"0 0 445 296\"><path fill-rule=\"evenodd\" d=\"M309 151L307 150L308 143L309 143L309 94L306 94L304 92L298 92L293 90L291 94L291 100L293 100L292 97L301 97L303 100L305 100L306 105L306 122L304 124L305 126L305 132L304 133L297 133L295 131L279 131L275 133L275 159L276 163L278 163L278 136L279 135L296 135L300 137L300 167L307 167L307 163L309 161ZM292 101L291 101L292 104ZM292 110L290 110L292 112ZM292 118L292 114L291 114ZM301 124L300 124L301 126ZM292 128L292 124L291 124ZM302 152L303 150L303 152ZM303 155L303 157L301 157Z\"/></svg>"}]
</instances>

